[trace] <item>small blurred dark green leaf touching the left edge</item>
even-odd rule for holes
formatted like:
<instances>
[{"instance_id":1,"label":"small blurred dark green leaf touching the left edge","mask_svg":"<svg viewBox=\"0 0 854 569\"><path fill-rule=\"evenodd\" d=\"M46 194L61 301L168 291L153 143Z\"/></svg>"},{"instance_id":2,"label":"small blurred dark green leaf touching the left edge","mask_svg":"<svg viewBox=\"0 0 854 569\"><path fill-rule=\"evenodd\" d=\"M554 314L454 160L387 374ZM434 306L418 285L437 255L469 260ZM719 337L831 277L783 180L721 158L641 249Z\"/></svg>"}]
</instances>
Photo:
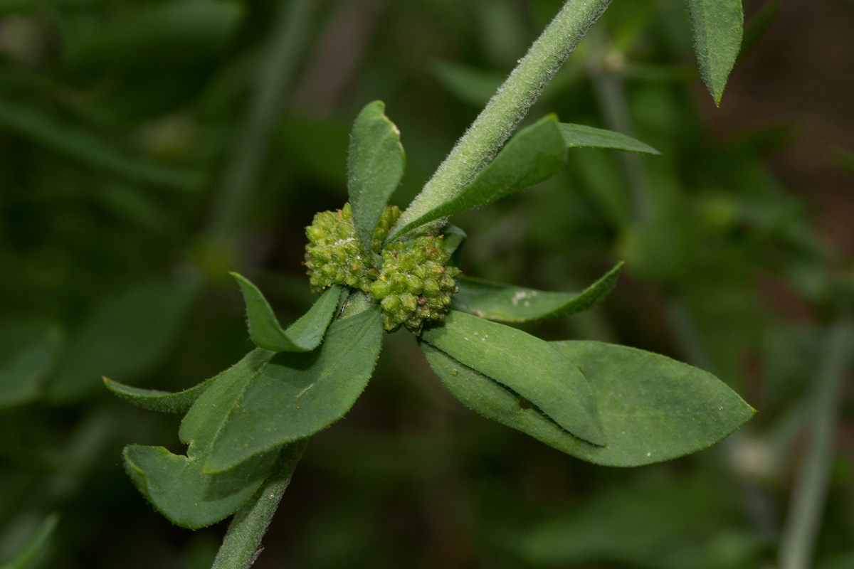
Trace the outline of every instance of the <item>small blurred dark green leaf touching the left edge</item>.
<instances>
[{"instance_id":1,"label":"small blurred dark green leaf touching the left edge","mask_svg":"<svg viewBox=\"0 0 854 569\"><path fill-rule=\"evenodd\" d=\"M47 330L4 362L0 367L0 409L37 399L59 351L58 334Z\"/></svg>"}]
</instances>

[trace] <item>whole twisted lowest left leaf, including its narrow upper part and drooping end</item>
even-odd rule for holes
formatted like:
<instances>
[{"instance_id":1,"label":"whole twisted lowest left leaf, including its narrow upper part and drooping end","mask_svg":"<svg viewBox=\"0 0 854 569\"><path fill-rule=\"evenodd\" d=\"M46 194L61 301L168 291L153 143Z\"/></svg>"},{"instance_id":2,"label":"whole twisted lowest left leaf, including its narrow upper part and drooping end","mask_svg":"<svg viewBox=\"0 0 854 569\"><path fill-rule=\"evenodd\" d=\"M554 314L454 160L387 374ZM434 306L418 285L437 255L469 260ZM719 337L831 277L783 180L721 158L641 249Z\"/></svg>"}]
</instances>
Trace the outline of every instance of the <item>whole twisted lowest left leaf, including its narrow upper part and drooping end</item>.
<instances>
[{"instance_id":1,"label":"whole twisted lowest left leaf, including its narrow upper part and drooping end","mask_svg":"<svg viewBox=\"0 0 854 569\"><path fill-rule=\"evenodd\" d=\"M188 443L187 456L162 447L130 445L124 458L137 489L173 523L197 529L223 520L264 481L278 450L254 456L223 473L202 473L210 445L246 385L272 356L256 349L213 378L184 416L178 432Z\"/></svg>"}]
</instances>

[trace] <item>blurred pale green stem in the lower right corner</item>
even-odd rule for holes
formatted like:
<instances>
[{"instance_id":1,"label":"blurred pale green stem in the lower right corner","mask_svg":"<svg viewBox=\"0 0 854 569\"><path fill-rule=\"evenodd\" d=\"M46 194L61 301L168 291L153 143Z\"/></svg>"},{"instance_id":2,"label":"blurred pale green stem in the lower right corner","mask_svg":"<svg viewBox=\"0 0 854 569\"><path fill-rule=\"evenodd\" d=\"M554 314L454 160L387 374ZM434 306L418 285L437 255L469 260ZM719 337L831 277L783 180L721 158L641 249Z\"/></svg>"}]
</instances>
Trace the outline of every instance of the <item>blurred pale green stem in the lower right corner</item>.
<instances>
[{"instance_id":1,"label":"blurred pale green stem in the lower right corner","mask_svg":"<svg viewBox=\"0 0 854 569\"><path fill-rule=\"evenodd\" d=\"M783 528L781 569L807 569L812 565L816 536L828 496L834 427L839 415L845 374L854 358L854 326L839 322L828 332L810 418L810 447L801 462L799 483Z\"/></svg>"}]
</instances>

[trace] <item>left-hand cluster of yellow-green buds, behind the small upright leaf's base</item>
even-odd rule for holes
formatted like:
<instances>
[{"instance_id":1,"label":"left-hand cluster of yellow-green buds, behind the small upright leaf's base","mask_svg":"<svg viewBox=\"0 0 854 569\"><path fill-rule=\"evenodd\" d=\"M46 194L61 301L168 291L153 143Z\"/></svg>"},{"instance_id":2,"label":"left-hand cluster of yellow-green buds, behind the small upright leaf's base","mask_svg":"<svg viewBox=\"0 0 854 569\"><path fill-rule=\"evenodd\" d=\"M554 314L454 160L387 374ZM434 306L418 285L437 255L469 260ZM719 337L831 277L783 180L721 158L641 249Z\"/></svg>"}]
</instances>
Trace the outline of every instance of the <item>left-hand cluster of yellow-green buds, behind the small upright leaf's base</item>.
<instances>
[{"instance_id":1,"label":"left-hand cluster of yellow-green buds, behind the small upright leaf's base","mask_svg":"<svg viewBox=\"0 0 854 569\"><path fill-rule=\"evenodd\" d=\"M397 206L383 210L377 229L374 229L371 249L379 253L389 229L401 215ZM315 293L321 293L333 284L346 284L367 292L379 276L370 258L362 258L359 238L353 223L353 211L346 203L335 212L319 212L306 228L305 265L308 280Z\"/></svg>"}]
</instances>

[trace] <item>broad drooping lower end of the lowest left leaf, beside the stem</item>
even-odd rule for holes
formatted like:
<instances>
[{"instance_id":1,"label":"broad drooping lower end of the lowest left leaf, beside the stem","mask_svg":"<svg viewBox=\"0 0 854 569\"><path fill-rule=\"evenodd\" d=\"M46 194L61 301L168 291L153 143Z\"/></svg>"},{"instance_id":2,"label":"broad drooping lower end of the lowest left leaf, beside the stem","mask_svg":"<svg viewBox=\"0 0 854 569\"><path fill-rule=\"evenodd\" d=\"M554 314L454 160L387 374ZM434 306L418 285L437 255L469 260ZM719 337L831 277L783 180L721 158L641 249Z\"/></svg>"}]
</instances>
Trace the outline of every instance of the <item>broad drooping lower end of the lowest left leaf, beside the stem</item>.
<instances>
[{"instance_id":1,"label":"broad drooping lower end of the lowest left leaf, beside the stem","mask_svg":"<svg viewBox=\"0 0 854 569\"><path fill-rule=\"evenodd\" d=\"M202 473L207 454L173 455L161 446L131 444L125 467L143 496L173 524L197 530L224 520L258 490L278 449L223 473Z\"/></svg>"}]
</instances>

